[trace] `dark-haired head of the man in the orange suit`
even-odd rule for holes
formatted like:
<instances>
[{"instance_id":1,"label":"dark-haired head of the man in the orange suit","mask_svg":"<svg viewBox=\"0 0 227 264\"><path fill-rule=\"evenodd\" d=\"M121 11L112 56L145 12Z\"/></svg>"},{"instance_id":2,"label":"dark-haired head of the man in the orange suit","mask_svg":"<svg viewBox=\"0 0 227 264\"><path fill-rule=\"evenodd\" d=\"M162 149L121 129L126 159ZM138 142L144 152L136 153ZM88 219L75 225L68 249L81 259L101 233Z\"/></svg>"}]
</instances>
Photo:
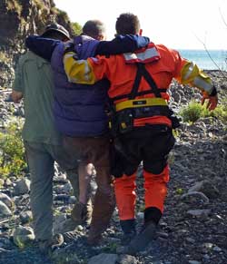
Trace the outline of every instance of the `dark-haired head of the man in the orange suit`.
<instances>
[{"instance_id":1,"label":"dark-haired head of the man in the orange suit","mask_svg":"<svg viewBox=\"0 0 227 264\"><path fill-rule=\"evenodd\" d=\"M123 13L117 18L115 29L117 34L138 34L140 31L139 18L131 13Z\"/></svg>"}]
</instances>

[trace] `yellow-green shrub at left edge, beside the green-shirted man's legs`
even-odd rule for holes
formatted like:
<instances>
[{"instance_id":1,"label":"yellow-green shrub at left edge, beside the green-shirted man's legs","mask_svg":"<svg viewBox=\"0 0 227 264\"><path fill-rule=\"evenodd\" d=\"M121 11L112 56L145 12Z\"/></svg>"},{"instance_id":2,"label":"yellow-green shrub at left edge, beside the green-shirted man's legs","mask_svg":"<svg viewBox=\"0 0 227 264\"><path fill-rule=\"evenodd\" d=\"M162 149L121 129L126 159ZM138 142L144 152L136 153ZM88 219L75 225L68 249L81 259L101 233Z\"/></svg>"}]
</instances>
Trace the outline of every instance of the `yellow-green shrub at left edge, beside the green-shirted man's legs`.
<instances>
[{"instance_id":1,"label":"yellow-green shrub at left edge, beside the green-shirted man's legs","mask_svg":"<svg viewBox=\"0 0 227 264\"><path fill-rule=\"evenodd\" d=\"M10 122L5 132L0 132L0 177L18 176L26 168L21 129L22 122Z\"/></svg>"}]
</instances>

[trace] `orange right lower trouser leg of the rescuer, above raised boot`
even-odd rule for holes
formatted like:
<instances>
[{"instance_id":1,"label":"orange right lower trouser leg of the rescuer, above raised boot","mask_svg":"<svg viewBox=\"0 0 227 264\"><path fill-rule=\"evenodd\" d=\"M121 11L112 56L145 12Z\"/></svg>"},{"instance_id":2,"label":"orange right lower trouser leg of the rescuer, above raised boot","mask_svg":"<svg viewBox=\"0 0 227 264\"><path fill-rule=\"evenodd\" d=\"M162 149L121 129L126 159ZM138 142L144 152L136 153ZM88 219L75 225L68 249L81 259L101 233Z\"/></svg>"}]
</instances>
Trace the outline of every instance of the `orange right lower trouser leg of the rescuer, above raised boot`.
<instances>
[{"instance_id":1,"label":"orange right lower trouser leg of the rescuer, above raised boot","mask_svg":"<svg viewBox=\"0 0 227 264\"><path fill-rule=\"evenodd\" d=\"M167 182L169 181L169 166L160 174L143 171L145 208L155 207L163 213L163 204L167 194Z\"/></svg>"}]
</instances>

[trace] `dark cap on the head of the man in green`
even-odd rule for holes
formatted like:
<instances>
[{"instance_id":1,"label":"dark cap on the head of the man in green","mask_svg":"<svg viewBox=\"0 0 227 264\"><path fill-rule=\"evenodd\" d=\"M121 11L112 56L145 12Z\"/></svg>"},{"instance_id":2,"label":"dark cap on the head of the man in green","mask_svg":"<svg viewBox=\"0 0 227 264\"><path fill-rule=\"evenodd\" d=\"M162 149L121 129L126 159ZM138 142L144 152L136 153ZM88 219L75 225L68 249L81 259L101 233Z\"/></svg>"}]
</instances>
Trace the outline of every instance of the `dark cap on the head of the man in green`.
<instances>
[{"instance_id":1,"label":"dark cap on the head of the man in green","mask_svg":"<svg viewBox=\"0 0 227 264\"><path fill-rule=\"evenodd\" d=\"M58 39L63 42L70 40L69 32L61 24L48 24L45 27L43 37Z\"/></svg>"}]
</instances>

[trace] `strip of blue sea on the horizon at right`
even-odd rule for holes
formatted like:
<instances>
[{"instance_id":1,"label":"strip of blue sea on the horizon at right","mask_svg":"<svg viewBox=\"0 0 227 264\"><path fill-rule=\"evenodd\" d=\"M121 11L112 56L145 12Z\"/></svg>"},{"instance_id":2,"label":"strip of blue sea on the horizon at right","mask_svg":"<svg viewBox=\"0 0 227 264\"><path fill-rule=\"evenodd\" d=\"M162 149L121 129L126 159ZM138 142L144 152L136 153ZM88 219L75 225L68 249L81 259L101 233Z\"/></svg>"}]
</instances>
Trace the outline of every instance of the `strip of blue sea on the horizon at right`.
<instances>
[{"instance_id":1,"label":"strip of blue sea on the horizon at right","mask_svg":"<svg viewBox=\"0 0 227 264\"><path fill-rule=\"evenodd\" d=\"M203 70L227 70L227 50L179 50L189 61Z\"/></svg>"}]
</instances>

